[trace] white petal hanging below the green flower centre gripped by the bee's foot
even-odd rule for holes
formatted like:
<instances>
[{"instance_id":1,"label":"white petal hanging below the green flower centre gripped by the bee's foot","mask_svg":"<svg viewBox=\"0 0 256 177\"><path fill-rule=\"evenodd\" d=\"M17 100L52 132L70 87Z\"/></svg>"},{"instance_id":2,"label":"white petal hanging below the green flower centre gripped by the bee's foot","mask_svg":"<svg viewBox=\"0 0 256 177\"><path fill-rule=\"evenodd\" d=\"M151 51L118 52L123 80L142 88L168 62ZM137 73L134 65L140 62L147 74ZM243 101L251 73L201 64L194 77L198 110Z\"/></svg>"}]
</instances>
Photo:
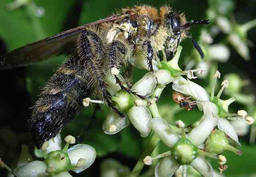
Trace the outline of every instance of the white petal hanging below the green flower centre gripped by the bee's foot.
<instances>
[{"instance_id":1,"label":"white petal hanging below the green flower centre gripped by the bee's foot","mask_svg":"<svg viewBox=\"0 0 256 177\"><path fill-rule=\"evenodd\" d=\"M140 136L146 137L150 133L151 113L146 106L133 106L127 113L133 126L140 132Z\"/></svg>"}]
</instances>

